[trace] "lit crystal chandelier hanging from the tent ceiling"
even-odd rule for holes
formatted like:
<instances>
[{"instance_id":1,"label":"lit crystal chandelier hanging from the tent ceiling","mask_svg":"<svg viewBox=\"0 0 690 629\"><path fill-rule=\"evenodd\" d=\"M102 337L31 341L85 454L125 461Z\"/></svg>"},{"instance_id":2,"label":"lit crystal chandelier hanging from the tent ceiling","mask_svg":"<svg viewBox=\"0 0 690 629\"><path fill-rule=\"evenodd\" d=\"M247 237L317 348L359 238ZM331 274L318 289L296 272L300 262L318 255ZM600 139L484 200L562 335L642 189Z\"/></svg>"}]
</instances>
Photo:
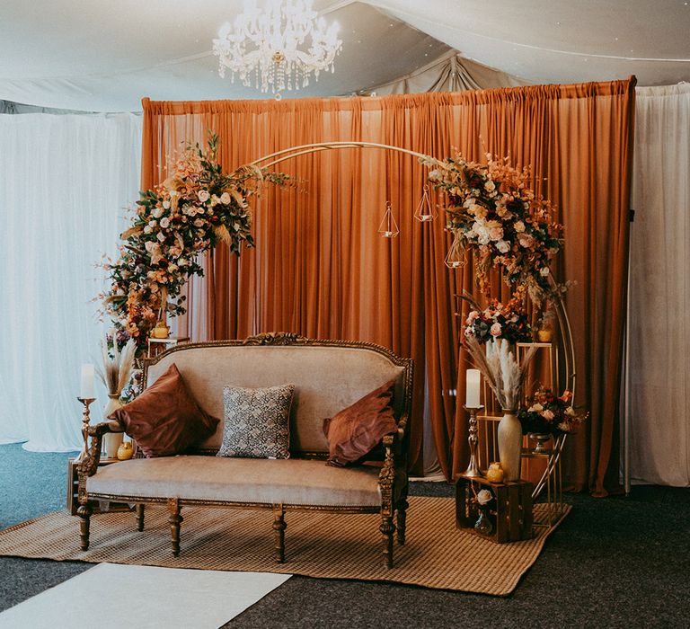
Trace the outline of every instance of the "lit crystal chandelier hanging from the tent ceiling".
<instances>
[{"instance_id":1,"label":"lit crystal chandelier hanging from the tent ceiling","mask_svg":"<svg viewBox=\"0 0 690 629\"><path fill-rule=\"evenodd\" d=\"M255 0L244 0L244 10L226 22L213 40L218 74L238 75L244 85L253 83L261 92L269 86L276 98L283 90L298 90L309 84L309 76L333 68L340 52L338 23L327 27L317 19L313 0L266 0L261 10Z\"/></svg>"}]
</instances>

